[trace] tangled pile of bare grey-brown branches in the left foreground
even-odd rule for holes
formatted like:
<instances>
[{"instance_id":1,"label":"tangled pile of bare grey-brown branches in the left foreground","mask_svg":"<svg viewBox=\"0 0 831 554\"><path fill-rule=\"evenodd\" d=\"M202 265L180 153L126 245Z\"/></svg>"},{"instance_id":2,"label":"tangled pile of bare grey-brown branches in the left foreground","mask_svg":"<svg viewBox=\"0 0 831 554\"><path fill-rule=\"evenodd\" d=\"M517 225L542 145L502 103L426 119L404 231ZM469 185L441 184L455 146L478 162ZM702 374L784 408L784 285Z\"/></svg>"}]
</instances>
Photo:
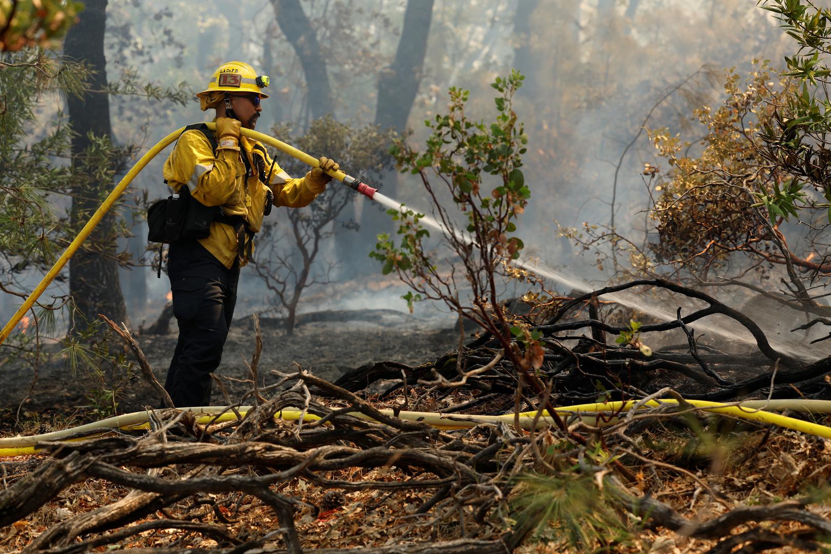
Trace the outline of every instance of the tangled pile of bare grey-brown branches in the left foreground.
<instances>
[{"instance_id":1,"label":"tangled pile of bare grey-brown branches in the left foreground","mask_svg":"<svg viewBox=\"0 0 831 554\"><path fill-rule=\"evenodd\" d=\"M26 518L67 487L89 478L114 483L130 493L42 532L27 546L27 552L85 552L150 528L213 537L220 546L214 552L243 552L239 550L242 545L253 548L271 538L282 538L288 552L302 552L295 513L307 510L317 517L319 507L277 492L298 478L334 490L430 493L413 514L411 526L415 527L440 526L458 516L462 516L459 524L463 528L469 519L474 527L497 525L490 518L491 510L510 493L509 476L524 459L527 438L505 426L445 434L426 424L386 417L365 401L312 375L290 375L285 381L293 381L294 386L233 424L198 425L189 421L186 412L169 410L155 422L153 433L137 439L123 436L43 444L52 458L0 495L0 526ZM343 408L332 409L312 400L307 384L327 387L331 395L340 397ZM302 407L322 419L298 425L275 421L274 414L289 407ZM359 411L379 423L357 419L347 411ZM406 478L371 481L332 477L356 468L392 466L400 468ZM206 495L232 493L250 495L271 507L278 517L278 532L245 542L222 527L199 522L226 500L206 502ZM171 507L176 507L179 517L143 522L76 542L77 537L123 527ZM471 509L474 512L468 514ZM461 533L463 538L465 534ZM506 544L501 538L491 542L460 540L430 552L504 552Z\"/></svg>"}]
</instances>

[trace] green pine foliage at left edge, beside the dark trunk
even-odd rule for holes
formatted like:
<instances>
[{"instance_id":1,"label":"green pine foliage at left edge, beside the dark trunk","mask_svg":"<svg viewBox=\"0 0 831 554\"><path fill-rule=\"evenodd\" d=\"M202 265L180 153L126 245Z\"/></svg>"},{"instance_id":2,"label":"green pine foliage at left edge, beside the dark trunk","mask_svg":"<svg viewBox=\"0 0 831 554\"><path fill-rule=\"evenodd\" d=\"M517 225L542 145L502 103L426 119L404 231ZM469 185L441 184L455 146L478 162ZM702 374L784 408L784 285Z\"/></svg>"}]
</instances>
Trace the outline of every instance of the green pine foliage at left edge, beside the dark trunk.
<instances>
[{"instance_id":1,"label":"green pine foliage at left edge, beside the dark trunk","mask_svg":"<svg viewBox=\"0 0 831 554\"><path fill-rule=\"evenodd\" d=\"M0 297L4 306L27 296L23 279L28 272L46 272L55 261L61 238L59 199L74 182L66 165L54 163L71 155L69 127L58 120L42 134L30 135L38 101L58 93L81 94L85 77L82 66L61 63L49 51L27 48L0 54ZM22 357L31 355L37 363L37 336L52 331L54 311L65 303L66 297L42 297L33 306L22 326L28 332L14 337L13 348Z\"/></svg>"}]
</instances>

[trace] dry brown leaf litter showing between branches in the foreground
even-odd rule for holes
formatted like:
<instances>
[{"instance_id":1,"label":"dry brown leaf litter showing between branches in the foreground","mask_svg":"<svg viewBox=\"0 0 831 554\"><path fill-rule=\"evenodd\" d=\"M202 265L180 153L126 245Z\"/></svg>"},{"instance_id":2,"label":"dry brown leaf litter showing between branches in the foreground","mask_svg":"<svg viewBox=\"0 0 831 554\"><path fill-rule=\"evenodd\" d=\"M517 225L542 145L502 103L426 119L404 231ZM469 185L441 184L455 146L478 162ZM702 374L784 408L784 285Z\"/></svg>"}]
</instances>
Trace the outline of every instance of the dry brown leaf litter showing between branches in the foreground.
<instances>
[{"instance_id":1,"label":"dry brown leaf litter showing between branches in the foreground","mask_svg":"<svg viewBox=\"0 0 831 554\"><path fill-rule=\"evenodd\" d=\"M636 439L642 446L641 453L661 465L648 462L641 464L637 461L632 463L632 459L628 460L627 467L636 475L635 481L627 483L628 490L665 504L678 517L699 523L747 507L781 506L781 519L784 521L779 521L780 518L775 514L769 518L769 522L760 525L755 521L739 521L725 527L723 536L745 533L750 537L753 532L759 534L764 531L770 534L770 540L774 540L774 536L779 537L777 540L782 549L777 552L814 552L813 549L787 546L789 542L799 545L802 541L807 544L810 540L800 537L817 534L815 529L810 529L803 523L789 521L787 511L793 512L794 508L803 510L800 502L806 490L824 488L824 483L831 476L829 442L787 430L739 429L735 426L730 429L732 424L735 422L713 420L710 426L701 429L706 433L704 435L693 432L682 420L668 421L658 429L644 431ZM292 427L293 424L278 424L272 433L292 436L296 430ZM523 439L527 440L528 436L524 434ZM711 444L704 444L701 437L709 437ZM548 446L553 446L556 441L552 439L548 437L543 444L550 443ZM107 439L99 440L103 442ZM109 448L105 447L96 456L101 456ZM64 456L63 459L66 459L66 454ZM578 463L575 457L565 459L568 463ZM13 487L15 483L21 483L25 475L31 474L32 467L43 466L44 461L43 456L24 456L2 463L6 475L3 479L5 486ZM524 471L533 472L537 464L532 459L526 460L526 463L528 465ZM16 466L25 466L26 471L15 472ZM129 465L120 467L120 470L125 471L127 468L130 468L132 474L145 474L140 468ZM185 473L192 475L194 465L166 466L162 476L173 480L176 473L179 473L180 478L184 478ZM224 474L250 473L243 466L238 466L226 468ZM268 471L264 474L268 475ZM420 513L420 508L425 507L434 497L435 489L408 490L401 487L402 483L425 480L425 477L414 475L412 470L388 468L385 465L376 468L351 467L322 471L317 473L317 477L312 479L301 475L288 478L270 488L273 493L297 501L299 507L294 510L294 524L299 545L304 550L384 548L419 544L425 540L430 547L435 548L443 542L463 539L480 541L482 543L476 548L482 548L484 542L504 541L512 525L516 526L524 517L529 517L529 513L522 512L519 500L531 494L545 498L549 507L561 503L560 509L572 512L558 514L556 509L541 509L541 498L526 503L526 508L540 513L547 512L545 515L550 520L537 522L538 527L529 533L516 552L731 552L725 550L724 545L718 547L729 538L685 537L684 532L671 531L665 527L651 528L654 523L650 521L648 512L635 516L598 493L600 489L593 487L597 473L590 477L578 470L564 470L550 482L544 479L525 482L514 488L505 503L506 508L513 506L518 510L514 514L516 520L512 517L499 517L494 513L482 522L475 519L475 505L458 507L449 503L450 506L445 507L445 517ZM563 490L563 478L573 478L578 483L577 488L567 489L573 498L558 494L558 491ZM328 483L332 482L340 482L343 486L359 490L330 488ZM322 486L322 483L327 483L327 486ZM396 488L386 489L386 483L395 485ZM706 493L704 486L717 491L718 499ZM396 490L397 488L401 490ZM66 525L73 517L83 517L84 514L111 508L113 503L125 498L128 490L106 478L86 478L72 484L37 511L3 527L0 532L0 548L4 552L19 551L47 529ZM597 496L591 500L593 495ZM828 518L831 516L831 505L820 501L812 504L809 509L804 509L804 513ZM203 527L165 528L172 520L179 519L199 522ZM464 525L460 524L462 520L465 521ZM158 527L154 526L154 522ZM123 537L120 541L121 548L192 547L231 552L234 544L239 545L253 537L268 537L278 528L278 517L268 504L253 495L198 493L170 503L152 514L137 517L124 530L129 530L130 526L135 527L135 535ZM106 536L107 534L96 533L84 538L89 541L89 537ZM232 541L228 537L236 540ZM578 537L576 544L575 537ZM62 547L50 552L83 552L81 548L73 549L81 547L80 542L64 541L61 544ZM53 548L56 546L52 545ZM92 543L87 543L86 546L92 547ZM264 552L270 552L269 548L279 550L283 545L278 537L272 537L271 541L264 542L260 547L265 549ZM463 545L459 550L446 552L487 551L469 549Z\"/></svg>"}]
</instances>

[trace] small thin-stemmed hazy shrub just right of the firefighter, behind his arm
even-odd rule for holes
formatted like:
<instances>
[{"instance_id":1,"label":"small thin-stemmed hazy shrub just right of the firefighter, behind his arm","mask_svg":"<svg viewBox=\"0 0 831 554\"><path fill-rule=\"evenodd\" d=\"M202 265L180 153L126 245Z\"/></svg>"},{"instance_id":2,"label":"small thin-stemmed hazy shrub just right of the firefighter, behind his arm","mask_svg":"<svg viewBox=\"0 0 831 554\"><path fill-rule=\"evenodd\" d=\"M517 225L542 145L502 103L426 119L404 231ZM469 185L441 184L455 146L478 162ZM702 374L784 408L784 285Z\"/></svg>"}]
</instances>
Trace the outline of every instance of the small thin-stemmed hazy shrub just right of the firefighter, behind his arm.
<instances>
[{"instance_id":1,"label":"small thin-stemmed hazy shrub just right of the firefighter, behind his arm","mask_svg":"<svg viewBox=\"0 0 831 554\"><path fill-rule=\"evenodd\" d=\"M293 136L286 127L275 129L274 133L285 137L284 140L300 150L326 152L343 167L369 177L382 174L392 165L392 159L384 151L391 136L389 132L381 133L373 125L353 129L329 115L312 121L302 136ZM306 170L293 158L284 160L280 166L288 174L301 174ZM288 336L294 334L302 293L332 282L330 272L337 264L324 262L327 267L322 268L324 264L319 260L322 249L327 248L327 242L337 235L356 239L355 226L340 222L338 217L354 195L352 189L332 181L327 190L305 209L284 211L275 208L277 213L267 219L259 233L254 271L273 292L272 307L285 316Z\"/></svg>"}]
</instances>

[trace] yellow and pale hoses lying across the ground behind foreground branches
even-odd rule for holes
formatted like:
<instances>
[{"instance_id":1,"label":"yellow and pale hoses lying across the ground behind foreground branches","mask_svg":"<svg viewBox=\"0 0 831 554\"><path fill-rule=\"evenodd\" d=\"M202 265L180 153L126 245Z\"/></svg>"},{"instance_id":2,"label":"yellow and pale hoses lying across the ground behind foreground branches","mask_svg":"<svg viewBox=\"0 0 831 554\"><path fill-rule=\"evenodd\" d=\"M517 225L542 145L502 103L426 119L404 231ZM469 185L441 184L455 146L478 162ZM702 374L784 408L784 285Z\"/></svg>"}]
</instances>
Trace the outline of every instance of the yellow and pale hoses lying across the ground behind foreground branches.
<instances>
[{"instance_id":1,"label":"yellow and pale hoses lying across the ground behind foreground branches","mask_svg":"<svg viewBox=\"0 0 831 554\"><path fill-rule=\"evenodd\" d=\"M812 414L831 414L831 401L829 400L745 400L740 404L720 404L718 402L708 402L706 400L686 400L692 406L706 410L714 414L729 415L741 419L749 419L751 421L758 421L761 424L778 425L785 429L793 429L801 433L814 434L824 439L831 439L831 427L825 425L814 424L802 419L790 418L781 414L772 414L765 409L790 409L793 411L808 412ZM557 413L562 417L571 415L578 415L588 424L614 424L619 420L614 419L599 419L597 416L583 415L583 414L597 414L598 412L608 412L610 414L617 414L626 412L632 409L637 404L637 400L627 400L625 402L607 402L595 404L579 404L575 406L566 406L558 408ZM661 404L678 404L677 400L650 400L640 406L644 408L656 408ZM185 408L198 415L196 422L199 424L214 424L225 421L233 421L237 419L236 414L225 406L202 406L198 408ZM238 408L240 415L244 417L248 413L251 406L241 406ZM160 411L160 410L155 410ZM379 410L382 414L393 417L391 409ZM297 409L283 410L275 417L283 419L284 421L297 421L300 419L302 412ZM351 415L371 420L368 416L353 412ZM519 426L522 429L531 429L534 424L534 419L537 419L536 427L538 429L553 425L553 419L548 418L548 412L543 411L537 417L537 412L524 412L519 414ZM440 414L433 412L399 412L399 419L406 419L408 421L422 421L430 424L437 429L470 429L479 424L494 424L502 422L504 424L514 424L514 414L505 415L471 415L471 414ZM306 414L304 421L314 421L320 419L316 415ZM55 441L66 439L68 440L83 440L91 439L103 434L111 432L112 429L121 430L137 430L150 429L150 412L134 412L132 414L117 415L115 417L101 419L91 424L80 425L71 429L63 429L61 431L53 431L52 433L36 434L27 437L9 437L0 439L0 457L22 456L23 454L31 454L37 452L37 443Z\"/></svg>"}]
</instances>

